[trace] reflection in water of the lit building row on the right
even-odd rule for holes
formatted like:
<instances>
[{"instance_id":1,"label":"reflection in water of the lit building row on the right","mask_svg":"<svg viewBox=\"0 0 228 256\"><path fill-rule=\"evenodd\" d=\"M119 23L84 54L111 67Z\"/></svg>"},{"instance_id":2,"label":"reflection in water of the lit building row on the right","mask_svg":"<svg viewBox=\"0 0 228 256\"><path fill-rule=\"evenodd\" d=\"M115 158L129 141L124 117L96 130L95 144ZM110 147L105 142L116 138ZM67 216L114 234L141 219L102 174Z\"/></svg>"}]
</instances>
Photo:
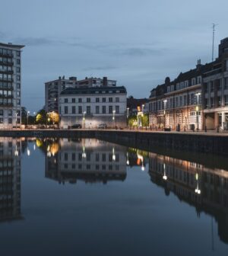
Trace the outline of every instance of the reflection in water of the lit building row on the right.
<instances>
[{"instance_id":1,"label":"reflection in water of the lit building row on the right","mask_svg":"<svg viewBox=\"0 0 228 256\"><path fill-rule=\"evenodd\" d=\"M198 215L209 213L218 233L228 243L228 171L206 168L194 162L149 153L151 181L195 206Z\"/></svg>"}]
</instances>

